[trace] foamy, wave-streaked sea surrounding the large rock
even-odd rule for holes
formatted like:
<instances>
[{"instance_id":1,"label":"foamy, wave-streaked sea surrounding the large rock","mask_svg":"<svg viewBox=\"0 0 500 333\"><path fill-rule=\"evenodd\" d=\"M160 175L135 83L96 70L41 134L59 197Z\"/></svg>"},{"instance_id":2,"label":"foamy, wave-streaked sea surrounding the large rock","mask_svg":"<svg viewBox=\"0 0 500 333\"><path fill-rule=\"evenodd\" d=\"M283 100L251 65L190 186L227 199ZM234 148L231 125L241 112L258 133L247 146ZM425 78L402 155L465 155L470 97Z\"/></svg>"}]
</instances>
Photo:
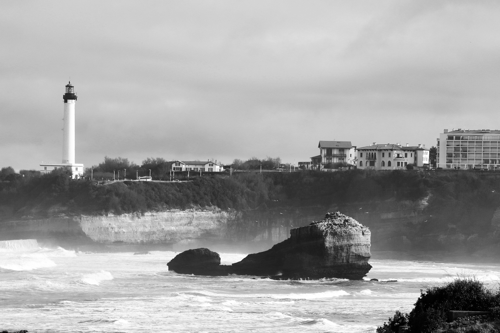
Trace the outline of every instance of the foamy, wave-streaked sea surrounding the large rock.
<instances>
[{"instance_id":1,"label":"foamy, wave-streaked sea surrounding the large rock","mask_svg":"<svg viewBox=\"0 0 500 333\"><path fill-rule=\"evenodd\" d=\"M498 264L399 260L371 260L363 281L204 277L169 272L176 254L84 253L42 248L35 240L2 241L0 331L367 333L396 310L409 312L425 288L457 277L497 288L500 280ZM220 257L231 264L245 254Z\"/></svg>"}]
</instances>

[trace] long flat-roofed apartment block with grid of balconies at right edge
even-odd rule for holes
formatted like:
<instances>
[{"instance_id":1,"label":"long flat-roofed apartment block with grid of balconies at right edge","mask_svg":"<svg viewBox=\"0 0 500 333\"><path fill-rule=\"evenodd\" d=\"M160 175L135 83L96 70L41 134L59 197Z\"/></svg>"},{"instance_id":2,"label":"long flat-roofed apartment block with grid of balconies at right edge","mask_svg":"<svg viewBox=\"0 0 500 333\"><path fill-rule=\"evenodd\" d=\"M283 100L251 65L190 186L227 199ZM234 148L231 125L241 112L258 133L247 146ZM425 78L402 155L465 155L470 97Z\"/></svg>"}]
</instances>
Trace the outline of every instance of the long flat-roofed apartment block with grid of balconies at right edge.
<instances>
[{"instance_id":1,"label":"long flat-roofed apartment block with grid of balconies at right edge","mask_svg":"<svg viewBox=\"0 0 500 333\"><path fill-rule=\"evenodd\" d=\"M445 129L436 147L437 166L443 169L500 168L500 130Z\"/></svg>"}]
</instances>

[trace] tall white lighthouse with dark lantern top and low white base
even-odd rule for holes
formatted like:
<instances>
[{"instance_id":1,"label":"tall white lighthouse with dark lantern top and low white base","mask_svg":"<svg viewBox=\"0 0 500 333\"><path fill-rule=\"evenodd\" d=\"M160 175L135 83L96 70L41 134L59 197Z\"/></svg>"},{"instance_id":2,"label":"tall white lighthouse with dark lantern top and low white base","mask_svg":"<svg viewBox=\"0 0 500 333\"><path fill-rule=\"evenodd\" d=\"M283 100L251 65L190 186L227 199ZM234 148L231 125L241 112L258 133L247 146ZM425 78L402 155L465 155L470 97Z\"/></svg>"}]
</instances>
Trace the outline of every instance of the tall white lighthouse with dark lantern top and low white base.
<instances>
[{"instance_id":1,"label":"tall white lighthouse with dark lantern top and low white base","mask_svg":"<svg viewBox=\"0 0 500 333\"><path fill-rule=\"evenodd\" d=\"M76 102L76 94L71 82L66 84L66 92L62 95L64 99L64 115L62 118L62 163L40 164L42 172L50 172L59 168L67 168L72 171L73 178L83 176L83 164L74 163L74 104Z\"/></svg>"}]
</instances>

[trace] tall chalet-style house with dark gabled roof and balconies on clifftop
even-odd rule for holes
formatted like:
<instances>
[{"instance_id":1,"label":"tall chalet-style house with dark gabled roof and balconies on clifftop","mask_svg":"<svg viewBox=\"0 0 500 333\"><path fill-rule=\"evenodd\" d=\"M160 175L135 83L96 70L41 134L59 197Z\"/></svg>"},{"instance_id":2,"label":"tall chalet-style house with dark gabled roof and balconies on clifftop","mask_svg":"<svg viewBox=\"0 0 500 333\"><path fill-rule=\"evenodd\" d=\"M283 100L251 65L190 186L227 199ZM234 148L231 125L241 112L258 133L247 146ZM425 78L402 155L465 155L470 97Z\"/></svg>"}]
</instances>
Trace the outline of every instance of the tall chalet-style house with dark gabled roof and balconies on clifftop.
<instances>
[{"instance_id":1,"label":"tall chalet-style house with dark gabled roof and balconies on clifftop","mask_svg":"<svg viewBox=\"0 0 500 333\"><path fill-rule=\"evenodd\" d=\"M319 155L311 157L310 167L321 169L328 163L356 164L356 155L350 141L319 141Z\"/></svg>"}]
</instances>

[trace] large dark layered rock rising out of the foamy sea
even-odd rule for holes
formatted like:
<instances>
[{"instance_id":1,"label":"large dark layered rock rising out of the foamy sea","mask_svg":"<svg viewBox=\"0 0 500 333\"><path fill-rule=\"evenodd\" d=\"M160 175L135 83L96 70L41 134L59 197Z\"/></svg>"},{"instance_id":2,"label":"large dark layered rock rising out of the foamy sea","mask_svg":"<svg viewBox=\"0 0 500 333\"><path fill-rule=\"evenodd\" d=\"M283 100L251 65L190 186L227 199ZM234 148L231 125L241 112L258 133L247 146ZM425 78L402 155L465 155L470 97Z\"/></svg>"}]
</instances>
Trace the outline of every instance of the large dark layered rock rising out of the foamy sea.
<instances>
[{"instance_id":1,"label":"large dark layered rock rising out of the foamy sea","mask_svg":"<svg viewBox=\"0 0 500 333\"><path fill-rule=\"evenodd\" d=\"M168 270L181 274L360 280L371 269L369 258L369 229L337 212L326 214L323 221L290 230L290 238L232 265L220 265L219 255L208 249L184 251L167 265Z\"/></svg>"}]
</instances>

